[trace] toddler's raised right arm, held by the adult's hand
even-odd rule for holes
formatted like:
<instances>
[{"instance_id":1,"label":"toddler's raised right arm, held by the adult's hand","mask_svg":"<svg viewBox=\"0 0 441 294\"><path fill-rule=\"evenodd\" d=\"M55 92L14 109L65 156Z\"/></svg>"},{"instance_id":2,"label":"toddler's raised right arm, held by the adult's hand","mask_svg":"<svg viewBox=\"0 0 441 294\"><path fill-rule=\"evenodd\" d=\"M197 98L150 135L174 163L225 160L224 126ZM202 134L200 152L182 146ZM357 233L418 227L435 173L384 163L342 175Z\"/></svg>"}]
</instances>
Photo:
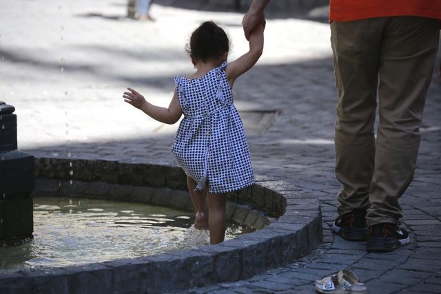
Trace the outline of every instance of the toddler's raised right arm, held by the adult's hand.
<instances>
[{"instance_id":1,"label":"toddler's raised right arm, held by the adult's hand","mask_svg":"<svg viewBox=\"0 0 441 294\"><path fill-rule=\"evenodd\" d=\"M249 51L235 61L228 63L225 73L228 83L233 87L234 80L241 74L247 72L258 61L263 52L263 23L252 30L249 35Z\"/></svg>"}]
</instances>

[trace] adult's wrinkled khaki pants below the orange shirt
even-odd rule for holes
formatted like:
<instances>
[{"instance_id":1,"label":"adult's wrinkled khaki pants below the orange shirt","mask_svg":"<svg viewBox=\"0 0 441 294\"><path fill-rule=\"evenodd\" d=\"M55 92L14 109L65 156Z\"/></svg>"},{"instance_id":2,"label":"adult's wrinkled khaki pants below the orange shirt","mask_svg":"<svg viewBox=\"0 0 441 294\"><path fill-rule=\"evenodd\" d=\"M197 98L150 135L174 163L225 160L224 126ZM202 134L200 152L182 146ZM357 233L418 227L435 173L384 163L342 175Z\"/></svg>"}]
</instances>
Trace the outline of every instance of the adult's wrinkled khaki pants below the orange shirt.
<instances>
[{"instance_id":1,"label":"adult's wrinkled khaki pants below the orange shirt","mask_svg":"<svg viewBox=\"0 0 441 294\"><path fill-rule=\"evenodd\" d=\"M398 198L415 171L439 33L439 21L423 17L331 22L340 215L367 209L369 226L402 218Z\"/></svg>"}]
</instances>

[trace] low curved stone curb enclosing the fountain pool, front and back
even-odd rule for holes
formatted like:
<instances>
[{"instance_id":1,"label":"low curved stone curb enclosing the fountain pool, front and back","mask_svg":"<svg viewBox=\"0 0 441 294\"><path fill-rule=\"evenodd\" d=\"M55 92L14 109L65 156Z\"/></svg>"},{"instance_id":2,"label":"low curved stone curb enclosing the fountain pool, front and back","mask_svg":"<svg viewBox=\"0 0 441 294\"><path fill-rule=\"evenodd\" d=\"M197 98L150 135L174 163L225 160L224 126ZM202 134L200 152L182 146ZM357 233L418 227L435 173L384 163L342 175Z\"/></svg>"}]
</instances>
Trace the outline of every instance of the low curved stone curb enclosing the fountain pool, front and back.
<instances>
[{"instance_id":1,"label":"low curved stone curb enclosing the fountain pool, front and back","mask_svg":"<svg viewBox=\"0 0 441 294\"><path fill-rule=\"evenodd\" d=\"M185 187L185 175L178 167L105 160L37 158L36 176L139 187ZM279 218L253 233L197 249L0 274L0 288L5 289L6 293L177 291L242 280L292 263L320 244L322 223L318 200L290 191L285 182L257 177L255 185L232 193L229 199L262 209L269 216Z\"/></svg>"}]
</instances>

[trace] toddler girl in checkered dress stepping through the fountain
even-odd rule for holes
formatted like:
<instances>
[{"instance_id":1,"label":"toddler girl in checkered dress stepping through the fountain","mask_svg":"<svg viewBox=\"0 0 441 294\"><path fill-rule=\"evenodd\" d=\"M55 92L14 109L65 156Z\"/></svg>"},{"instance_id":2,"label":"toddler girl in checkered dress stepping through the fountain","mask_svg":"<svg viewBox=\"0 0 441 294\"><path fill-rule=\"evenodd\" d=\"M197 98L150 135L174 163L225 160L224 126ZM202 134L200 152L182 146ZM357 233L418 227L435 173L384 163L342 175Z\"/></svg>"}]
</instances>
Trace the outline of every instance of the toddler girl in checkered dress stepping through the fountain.
<instances>
[{"instance_id":1,"label":"toddler girl in checkered dress stepping through the fountain","mask_svg":"<svg viewBox=\"0 0 441 294\"><path fill-rule=\"evenodd\" d=\"M232 87L262 54L263 29L262 24L252 31L247 53L227 63L227 34L212 21L202 23L187 45L196 71L174 78L176 90L168 108L148 103L131 88L123 94L125 102L162 123L174 124L184 114L172 152L187 174L196 210L195 227L208 227L210 244L225 238L227 193L254 183L247 138L233 105Z\"/></svg>"}]
</instances>

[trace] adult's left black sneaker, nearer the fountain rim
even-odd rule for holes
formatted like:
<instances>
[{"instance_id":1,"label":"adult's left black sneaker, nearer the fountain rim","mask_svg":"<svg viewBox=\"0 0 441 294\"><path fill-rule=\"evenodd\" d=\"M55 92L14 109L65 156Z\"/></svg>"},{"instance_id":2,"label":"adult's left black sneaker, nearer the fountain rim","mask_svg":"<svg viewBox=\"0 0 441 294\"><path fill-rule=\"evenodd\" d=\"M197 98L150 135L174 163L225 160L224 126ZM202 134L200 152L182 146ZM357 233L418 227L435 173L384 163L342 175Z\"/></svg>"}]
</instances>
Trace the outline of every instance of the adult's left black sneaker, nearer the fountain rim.
<instances>
[{"instance_id":1,"label":"adult's left black sneaker, nearer the fountain rim","mask_svg":"<svg viewBox=\"0 0 441 294\"><path fill-rule=\"evenodd\" d=\"M349 241L367 240L366 209L353 209L338 216L331 229Z\"/></svg>"}]
</instances>

